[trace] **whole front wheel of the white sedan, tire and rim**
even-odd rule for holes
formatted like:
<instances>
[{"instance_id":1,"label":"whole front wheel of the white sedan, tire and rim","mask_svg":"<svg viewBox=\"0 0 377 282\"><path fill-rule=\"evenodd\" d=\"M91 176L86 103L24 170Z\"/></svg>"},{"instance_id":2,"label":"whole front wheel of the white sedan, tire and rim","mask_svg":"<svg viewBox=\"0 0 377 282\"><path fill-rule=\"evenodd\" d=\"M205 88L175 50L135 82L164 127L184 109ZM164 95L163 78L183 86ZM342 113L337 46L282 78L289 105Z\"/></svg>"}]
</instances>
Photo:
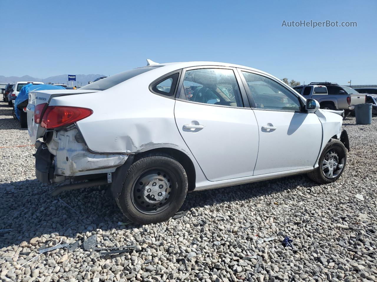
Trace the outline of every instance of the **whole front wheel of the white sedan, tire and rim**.
<instances>
[{"instance_id":1,"label":"whole front wheel of the white sedan, tire and rim","mask_svg":"<svg viewBox=\"0 0 377 282\"><path fill-rule=\"evenodd\" d=\"M320 184L335 182L343 173L347 162L346 147L337 139L331 139L319 158L319 166L308 173L311 180Z\"/></svg>"}]
</instances>

